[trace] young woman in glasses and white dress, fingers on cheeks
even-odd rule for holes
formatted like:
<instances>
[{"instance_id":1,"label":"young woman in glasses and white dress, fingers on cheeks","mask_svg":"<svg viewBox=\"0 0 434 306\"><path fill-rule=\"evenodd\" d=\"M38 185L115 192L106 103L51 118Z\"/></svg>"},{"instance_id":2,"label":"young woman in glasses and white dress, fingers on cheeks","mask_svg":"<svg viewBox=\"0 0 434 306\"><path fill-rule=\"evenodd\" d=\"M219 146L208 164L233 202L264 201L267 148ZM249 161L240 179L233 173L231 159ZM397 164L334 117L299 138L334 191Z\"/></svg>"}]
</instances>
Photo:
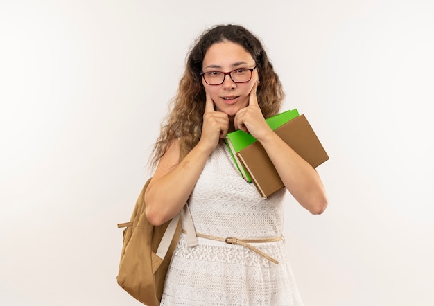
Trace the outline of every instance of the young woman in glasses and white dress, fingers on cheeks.
<instances>
[{"instance_id":1,"label":"young woman in glasses and white dress, fingers on cheeks","mask_svg":"<svg viewBox=\"0 0 434 306\"><path fill-rule=\"evenodd\" d=\"M189 52L155 144L146 217L162 224L188 202L199 244L187 247L181 234L162 305L302 305L281 237L287 192L262 199L223 141L235 129L252 134L290 194L309 212L322 213L327 196L318 173L265 121L283 98L261 42L242 26L214 26Z\"/></svg>"}]
</instances>

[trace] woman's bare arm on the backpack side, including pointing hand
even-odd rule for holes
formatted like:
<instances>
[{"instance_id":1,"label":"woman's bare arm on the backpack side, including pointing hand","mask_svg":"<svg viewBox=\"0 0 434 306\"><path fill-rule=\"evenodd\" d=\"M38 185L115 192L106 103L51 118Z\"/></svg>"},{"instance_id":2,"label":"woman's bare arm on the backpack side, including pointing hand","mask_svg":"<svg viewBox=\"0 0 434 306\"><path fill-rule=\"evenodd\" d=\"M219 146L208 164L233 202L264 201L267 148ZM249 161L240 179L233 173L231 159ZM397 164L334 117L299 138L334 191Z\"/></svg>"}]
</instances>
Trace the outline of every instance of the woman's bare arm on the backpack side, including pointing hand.
<instances>
[{"instance_id":1,"label":"woman's bare arm on the backpack side, including pointing hand","mask_svg":"<svg viewBox=\"0 0 434 306\"><path fill-rule=\"evenodd\" d=\"M180 143L173 141L159 160L145 193L145 213L149 222L160 225L180 212L200 177L209 154L229 127L227 114L214 111L214 102L207 95L200 141L179 161Z\"/></svg>"}]
</instances>

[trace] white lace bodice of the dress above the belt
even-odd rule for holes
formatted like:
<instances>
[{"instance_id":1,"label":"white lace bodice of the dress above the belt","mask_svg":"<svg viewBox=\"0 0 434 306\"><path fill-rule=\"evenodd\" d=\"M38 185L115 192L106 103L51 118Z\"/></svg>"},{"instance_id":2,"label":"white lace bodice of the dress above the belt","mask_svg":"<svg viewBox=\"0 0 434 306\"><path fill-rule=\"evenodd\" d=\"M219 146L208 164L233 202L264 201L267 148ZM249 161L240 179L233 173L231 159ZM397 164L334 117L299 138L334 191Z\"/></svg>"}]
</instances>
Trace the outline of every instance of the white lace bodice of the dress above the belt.
<instances>
[{"instance_id":1,"label":"white lace bodice of the dress above the belt","mask_svg":"<svg viewBox=\"0 0 434 306\"><path fill-rule=\"evenodd\" d=\"M283 198L280 190L262 199L253 183L247 183L227 147L220 143L211 153L189 199L198 233L218 237L263 238L282 234Z\"/></svg>"}]
</instances>

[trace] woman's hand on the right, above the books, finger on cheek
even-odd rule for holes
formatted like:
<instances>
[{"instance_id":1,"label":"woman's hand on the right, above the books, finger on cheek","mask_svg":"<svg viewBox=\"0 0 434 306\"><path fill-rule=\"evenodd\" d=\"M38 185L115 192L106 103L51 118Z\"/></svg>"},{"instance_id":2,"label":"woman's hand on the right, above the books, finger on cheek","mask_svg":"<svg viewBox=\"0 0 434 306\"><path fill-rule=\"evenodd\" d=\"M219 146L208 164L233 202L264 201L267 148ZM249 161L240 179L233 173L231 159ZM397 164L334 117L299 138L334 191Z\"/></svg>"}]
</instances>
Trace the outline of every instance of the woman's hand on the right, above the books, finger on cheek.
<instances>
[{"instance_id":1,"label":"woman's hand on the right, above the books, finger on cheek","mask_svg":"<svg viewBox=\"0 0 434 306\"><path fill-rule=\"evenodd\" d=\"M249 105L240 109L234 118L235 129L241 129L252 134L258 140L261 136L270 132L271 129L266 123L257 99L258 81L254 83L249 96Z\"/></svg>"}]
</instances>

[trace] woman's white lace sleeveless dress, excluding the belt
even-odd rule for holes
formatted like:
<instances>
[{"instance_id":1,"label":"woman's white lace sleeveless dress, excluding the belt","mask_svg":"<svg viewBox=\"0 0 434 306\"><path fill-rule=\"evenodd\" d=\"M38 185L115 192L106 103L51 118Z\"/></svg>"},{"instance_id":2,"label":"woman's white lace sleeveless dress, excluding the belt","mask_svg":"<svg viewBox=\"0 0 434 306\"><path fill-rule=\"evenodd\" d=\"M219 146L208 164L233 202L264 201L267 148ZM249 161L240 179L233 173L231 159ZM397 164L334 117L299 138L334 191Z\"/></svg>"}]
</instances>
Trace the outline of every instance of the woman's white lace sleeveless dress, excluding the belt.
<instances>
[{"instance_id":1,"label":"woman's white lace sleeveless dress, excluding the belt","mask_svg":"<svg viewBox=\"0 0 434 306\"><path fill-rule=\"evenodd\" d=\"M276 237L284 228L284 195L262 199L239 174L227 147L211 153L189 199L197 233L244 239ZM183 227L184 228L184 227ZM245 246L181 234L168 269L161 305L302 305L284 240L254 243L275 264Z\"/></svg>"}]
</instances>

